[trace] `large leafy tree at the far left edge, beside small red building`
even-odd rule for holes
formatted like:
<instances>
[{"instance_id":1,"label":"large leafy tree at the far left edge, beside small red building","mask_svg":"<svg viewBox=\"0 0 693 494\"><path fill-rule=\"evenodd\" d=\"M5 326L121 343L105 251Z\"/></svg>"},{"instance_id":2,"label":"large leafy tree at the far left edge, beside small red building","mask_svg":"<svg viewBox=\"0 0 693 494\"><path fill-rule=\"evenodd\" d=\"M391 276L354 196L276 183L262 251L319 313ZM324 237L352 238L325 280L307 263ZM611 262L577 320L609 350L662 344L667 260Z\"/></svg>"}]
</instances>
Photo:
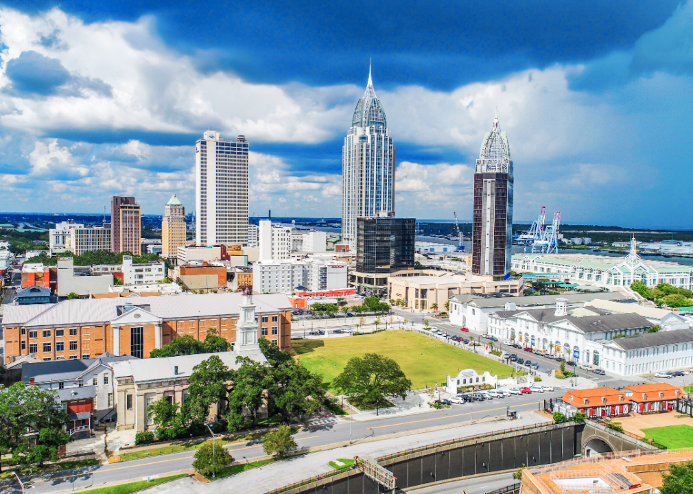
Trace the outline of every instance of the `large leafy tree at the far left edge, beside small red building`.
<instances>
[{"instance_id":1,"label":"large leafy tree at the far left edge, beside small red building","mask_svg":"<svg viewBox=\"0 0 693 494\"><path fill-rule=\"evenodd\" d=\"M60 446L71 441L63 430L67 422L55 391L25 382L0 387L0 449L11 451L16 463L58 461Z\"/></svg>"}]
</instances>

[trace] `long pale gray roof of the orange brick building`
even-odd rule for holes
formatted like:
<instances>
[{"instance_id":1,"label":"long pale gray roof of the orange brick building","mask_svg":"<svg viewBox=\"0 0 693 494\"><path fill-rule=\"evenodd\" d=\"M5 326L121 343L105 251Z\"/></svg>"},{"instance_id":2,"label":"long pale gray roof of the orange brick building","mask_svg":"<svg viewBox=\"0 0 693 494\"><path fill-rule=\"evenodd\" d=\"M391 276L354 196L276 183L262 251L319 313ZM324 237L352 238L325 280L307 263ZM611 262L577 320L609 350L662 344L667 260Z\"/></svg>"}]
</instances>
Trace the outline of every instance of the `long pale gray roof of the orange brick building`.
<instances>
[{"instance_id":1,"label":"long pale gray roof of the orange brick building","mask_svg":"<svg viewBox=\"0 0 693 494\"><path fill-rule=\"evenodd\" d=\"M146 297L138 301L123 301L117 298L75 299L40 306L5 306L2 322L4 326L21 325L27 328L107 324L118 316L119 306L125 303L150 306L147 309L149 312L164 319L237 316L242 297L243 294L240 293L209 293ZM275 313L292 308L288 297L281 293L254 295L253 302L256 314ZM26 310L28 307L33 310Z\"/></svg>"}]
</instances>

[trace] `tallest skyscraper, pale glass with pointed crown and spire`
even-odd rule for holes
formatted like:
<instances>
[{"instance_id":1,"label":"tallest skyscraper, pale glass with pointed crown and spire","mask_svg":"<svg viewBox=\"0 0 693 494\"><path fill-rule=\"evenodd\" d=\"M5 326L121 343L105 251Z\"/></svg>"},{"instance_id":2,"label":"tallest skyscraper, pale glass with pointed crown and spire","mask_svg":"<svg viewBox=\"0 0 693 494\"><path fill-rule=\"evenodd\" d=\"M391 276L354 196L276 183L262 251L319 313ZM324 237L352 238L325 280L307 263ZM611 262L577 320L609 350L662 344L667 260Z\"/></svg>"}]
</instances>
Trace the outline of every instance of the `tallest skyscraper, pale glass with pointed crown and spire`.
<instances>
[{"instance_id":1,"label":"tallest skyscraper, pale glass with pointed crown and spire","mask_svg":"<svg viewBox=\"0 0 693 494\"><path fill-rule=\"evenodd\" d=\"M371 72L342 147L342 242L356 249L356 218L394 216L394 144Z\"/></svg>"}]
</instances>

